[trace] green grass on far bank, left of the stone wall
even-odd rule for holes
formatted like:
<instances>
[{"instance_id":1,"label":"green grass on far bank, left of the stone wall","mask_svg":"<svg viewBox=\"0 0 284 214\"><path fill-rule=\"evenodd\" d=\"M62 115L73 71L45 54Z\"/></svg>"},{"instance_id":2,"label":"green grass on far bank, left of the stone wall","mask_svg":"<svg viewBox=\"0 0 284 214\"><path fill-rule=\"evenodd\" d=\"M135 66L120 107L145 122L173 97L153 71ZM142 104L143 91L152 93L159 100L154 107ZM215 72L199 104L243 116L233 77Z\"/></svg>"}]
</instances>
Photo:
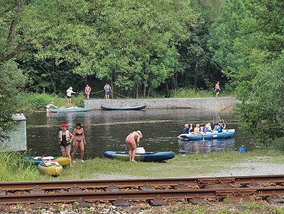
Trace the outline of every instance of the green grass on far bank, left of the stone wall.
<instances>
[{"instance_id":1,"label":"green grass on far bank, left of the stone wall","mask_svg":"<svg viewBox=\"0 0 284 214\"><path fill-rule=\"evenodd\" d=\"M84 94L72 96L72 106L83 107ZM18 111L45 111L45 106L50 102L60 108L61 106L71 107L67 105L67 97L61 98L56 94L34 94L34 93L20 93L17 96Z\"/></svg>"}]
</instances>

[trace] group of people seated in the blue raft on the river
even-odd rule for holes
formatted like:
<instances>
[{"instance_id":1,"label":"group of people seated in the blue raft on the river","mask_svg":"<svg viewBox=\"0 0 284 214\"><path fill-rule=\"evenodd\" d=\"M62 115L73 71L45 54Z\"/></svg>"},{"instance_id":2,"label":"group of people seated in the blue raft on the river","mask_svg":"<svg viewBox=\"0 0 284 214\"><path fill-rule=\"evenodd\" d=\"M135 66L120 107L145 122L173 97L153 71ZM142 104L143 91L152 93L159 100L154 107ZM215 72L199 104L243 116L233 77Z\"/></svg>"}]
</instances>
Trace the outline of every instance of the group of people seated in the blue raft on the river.
<instances>
[{"instance_id":1,"label":"group of people seated in the blue raft on the river","mask_svg":"<svg viewBox=\"0 0 284 214\"><path fill-rule=\"evenodd\" d=\"M204 124L202 126L200 126L200 124L196 124L193 132L190 132L192 130L192 124L190 124L190 126L188 124L185 124L185 128L183 128L183 134L205 135L211 133L222 133L223 129L225 128L226 124L223 125L222 123L216 123L214 130L212 130L210 123Z\"/></svg>"}]
</instances>

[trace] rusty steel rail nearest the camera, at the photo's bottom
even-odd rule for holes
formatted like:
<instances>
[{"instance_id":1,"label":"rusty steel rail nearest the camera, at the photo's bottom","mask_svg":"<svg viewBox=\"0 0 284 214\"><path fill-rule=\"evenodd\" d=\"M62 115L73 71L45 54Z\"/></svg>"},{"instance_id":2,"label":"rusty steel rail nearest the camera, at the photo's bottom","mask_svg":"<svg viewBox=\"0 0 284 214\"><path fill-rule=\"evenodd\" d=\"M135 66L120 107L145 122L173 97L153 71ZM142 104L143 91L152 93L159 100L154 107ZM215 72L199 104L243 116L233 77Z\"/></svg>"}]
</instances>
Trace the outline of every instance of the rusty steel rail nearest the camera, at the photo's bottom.
<instances>
[{"instance_id":1,"label":"rusty steel rail nearest the camera, at the photo's bottom","mask_svg":"<svg viewBox=\"0 0 284 214\"><path fill-rule=\"evenodd\" d=\"M9 194L0 195L0 204L9 203L45 203L74 202L82 198L84 201L115 201L124 200L151 200L155 198L216 198L228 196L234 198L252 196L283 195L284 186L256 187L256 188L228 188L228 189L188 189L188 190L155 190L155 191L87 191L83 193L41 193L41 194Z\"/></svg>"}]
</instances>

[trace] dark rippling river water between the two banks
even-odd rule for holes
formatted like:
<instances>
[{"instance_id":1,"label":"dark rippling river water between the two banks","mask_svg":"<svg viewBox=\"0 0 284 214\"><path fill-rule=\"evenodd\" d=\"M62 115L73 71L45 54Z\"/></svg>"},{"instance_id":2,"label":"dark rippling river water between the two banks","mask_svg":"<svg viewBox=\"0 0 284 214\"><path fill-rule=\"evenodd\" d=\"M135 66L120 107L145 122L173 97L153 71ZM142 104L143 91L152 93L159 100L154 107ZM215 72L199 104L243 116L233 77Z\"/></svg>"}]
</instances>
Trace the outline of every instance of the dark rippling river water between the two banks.
<instances>
[{"instance_id":1,"label":"dark rippling river water between the two banks","mask_svg":"<svg viewBox=\"0 0 284 214\"><path fill-rule=\"evenodd\" d=\"M178 140L185 123L216 123L219 117L227 128L236 129L234 137L224 140ZM239 130L240 121L229 113L182 109L146 109L144 111L89 111L80 113L28 113L27 142L31 155L60 155L58 132L62 123L72 133L77 122L84 128L87 145L84 159L102 157L104 152L127 151L125 138L133 130L141 130L140 146L148 152L173 151L192 154L237 150L253 147L253 137ZM213 128L213 125L212 125ZM80 150L79 150L80 152ZM79 154L75 158L79 158Z\"/></svg>"}]
</instances>

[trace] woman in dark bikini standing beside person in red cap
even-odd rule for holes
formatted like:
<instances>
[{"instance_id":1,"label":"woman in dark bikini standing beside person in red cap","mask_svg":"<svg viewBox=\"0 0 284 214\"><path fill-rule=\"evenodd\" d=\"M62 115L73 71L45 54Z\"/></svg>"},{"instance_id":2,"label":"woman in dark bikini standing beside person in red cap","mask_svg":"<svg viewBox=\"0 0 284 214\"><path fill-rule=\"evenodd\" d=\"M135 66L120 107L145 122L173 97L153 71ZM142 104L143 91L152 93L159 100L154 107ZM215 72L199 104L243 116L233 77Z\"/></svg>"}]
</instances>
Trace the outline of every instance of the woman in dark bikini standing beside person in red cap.
<instances>
[{"instance_id":1,"label":"woman in dark bikini standing beside person in red cap","mask_svg":"<svg viewBox=\"0 0 284 214\"><path fill-rule=\"evenodd\" d=\"M72 152L72 163L75 163L74 156L77 152L78 146L81 150L81 162L84 163L84 145L86 145L86 139L84 138L84 129L81 126L81 123L76 123L76 128L73 131L74 140L73 140L73 152Z\"/></svg>"}]
</instances>

